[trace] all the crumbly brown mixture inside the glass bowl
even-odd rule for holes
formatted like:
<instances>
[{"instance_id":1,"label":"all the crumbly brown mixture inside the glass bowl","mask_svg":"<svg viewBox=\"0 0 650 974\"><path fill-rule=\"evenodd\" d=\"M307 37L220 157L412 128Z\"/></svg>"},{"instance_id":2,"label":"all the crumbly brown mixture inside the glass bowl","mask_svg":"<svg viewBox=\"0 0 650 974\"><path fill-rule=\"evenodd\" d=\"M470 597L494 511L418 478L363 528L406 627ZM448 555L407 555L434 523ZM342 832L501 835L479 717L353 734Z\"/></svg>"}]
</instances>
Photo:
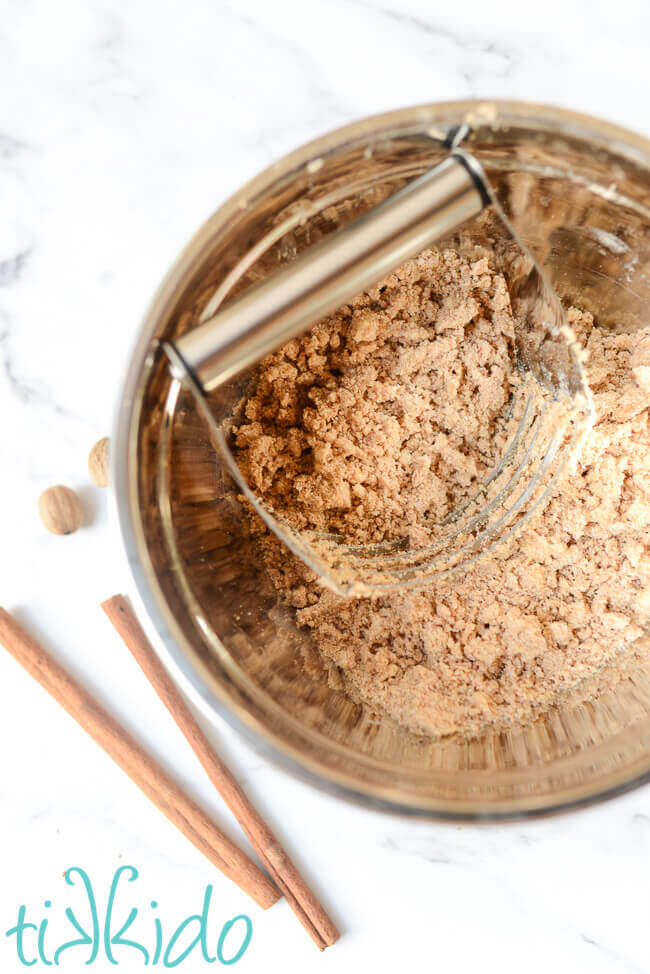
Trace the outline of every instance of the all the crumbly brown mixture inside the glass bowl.
<instances>
[{"instance_id":1,"label":"all the crumbly brown mixture inside the glass bowl","mask_svg":"<svg viewBox=\"0 0 650 974\"><path fill-rule=\"evenodd\" d=\"M650 329L569 318L596 423L562 489L508 545L424 589L344 599L261 538L332 685L416 733L472 737L593 693L603 673L612 685L650 617ZM412 535L493 462L518 381L512 339L502 279L426 252L263 363L239 463L296 527Z\"/></svg>"}]
</instances>

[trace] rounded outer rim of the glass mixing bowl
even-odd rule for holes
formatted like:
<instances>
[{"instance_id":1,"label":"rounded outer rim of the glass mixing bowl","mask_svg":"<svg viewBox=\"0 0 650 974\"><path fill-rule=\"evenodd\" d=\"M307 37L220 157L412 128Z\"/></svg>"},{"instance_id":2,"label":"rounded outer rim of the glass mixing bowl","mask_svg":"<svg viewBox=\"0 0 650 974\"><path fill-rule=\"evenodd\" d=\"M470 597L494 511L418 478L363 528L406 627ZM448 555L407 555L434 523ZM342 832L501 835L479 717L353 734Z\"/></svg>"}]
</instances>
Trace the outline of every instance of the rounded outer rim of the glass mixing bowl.
<instances>
[{"instance_id":1,"label":"rounded outer rim of the glass mixing bowl","mask_svg":"<svg viewBox=\"0 0 650 974\"><path fill-rule=\"evenodd\" d=\"M567 787L557 794L528 798L480 802L444 799L408 805L391 795L391 789L357 786L349 776L332 768L318 766L277 735L271 735L244 708L236 707L227 694L208 685L200 666L191 662L188 640L167 606L160 585L151 569L148 549L139 515L137 498L137 438L140 415L138 390L143 374L152 361L151 340L169 308L200 260L217 225L223 225L241 212L242 204L255 199L280 175L289 176L310 161L349 146L369 136L399 129L422 131L423 125L449 126L459 116L489 123L495 128L516 124L531 130L549 130L557 135L581 137L650 170L650 140L618 125L568 109L531 102L502 100L463 100L416 105L369 116L316 138L272 163L219 206L194 234L163 278L144 315L136 341L127 359L126 373L113 424L111 439L111 507L117 517L122 546L135 586L139 615L152 637L154 647L166 668L199 712L213 725L225 721L262 757L281 770L315 786L329 795L376 811L407 817L446 821L503 822L550 815L592 805L630 791L650 781L650 751L632 769L613 773L607 787L597 781ZM312 766L313 765L313 766Z\"/></svg>"}]
</instances>

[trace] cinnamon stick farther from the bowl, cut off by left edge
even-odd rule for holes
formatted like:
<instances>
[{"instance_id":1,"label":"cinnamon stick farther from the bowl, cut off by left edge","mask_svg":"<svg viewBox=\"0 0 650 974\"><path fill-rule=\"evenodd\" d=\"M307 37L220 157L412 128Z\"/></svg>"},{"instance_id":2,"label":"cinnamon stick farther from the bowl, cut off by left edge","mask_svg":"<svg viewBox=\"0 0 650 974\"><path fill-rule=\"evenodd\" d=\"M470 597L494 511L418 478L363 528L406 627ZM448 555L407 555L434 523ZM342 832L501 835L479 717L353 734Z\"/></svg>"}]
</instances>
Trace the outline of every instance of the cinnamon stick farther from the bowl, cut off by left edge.
<instances>
[{"instance_id":1,"label":"cinnamon stick farther from the bowl, cut off by left edge","mask_svg":"<svg viewBox=\"0 0 650 974\"><path fill-rule=\"evenodd\" d=\"M104 708L5 609L0 643L225 876L268 909L279 893L267 876Z\"/></svg>"}]
</instances>

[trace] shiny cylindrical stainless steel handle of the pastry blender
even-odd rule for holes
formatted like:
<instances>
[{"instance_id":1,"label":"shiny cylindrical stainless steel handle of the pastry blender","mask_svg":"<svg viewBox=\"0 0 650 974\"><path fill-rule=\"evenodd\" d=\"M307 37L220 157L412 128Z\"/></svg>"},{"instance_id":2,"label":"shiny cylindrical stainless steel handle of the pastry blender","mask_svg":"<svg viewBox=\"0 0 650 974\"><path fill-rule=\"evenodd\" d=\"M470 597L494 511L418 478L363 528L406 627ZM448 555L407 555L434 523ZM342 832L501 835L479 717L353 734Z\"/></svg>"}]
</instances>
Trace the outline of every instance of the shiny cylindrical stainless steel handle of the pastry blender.
<instances>
[{"instance_id":1,"label":"shiny cylindrical stainless steel handle of the pastry blender","mask_svg":"<svg viewBox=\"0 0 650 974\"><path fill-rule=\"evenodd\" d=\"M490 202L478 168L451 155L358 220L310 247L176 343L205 391L301 335L325 315Z\"/></svg>"}]
</instances>

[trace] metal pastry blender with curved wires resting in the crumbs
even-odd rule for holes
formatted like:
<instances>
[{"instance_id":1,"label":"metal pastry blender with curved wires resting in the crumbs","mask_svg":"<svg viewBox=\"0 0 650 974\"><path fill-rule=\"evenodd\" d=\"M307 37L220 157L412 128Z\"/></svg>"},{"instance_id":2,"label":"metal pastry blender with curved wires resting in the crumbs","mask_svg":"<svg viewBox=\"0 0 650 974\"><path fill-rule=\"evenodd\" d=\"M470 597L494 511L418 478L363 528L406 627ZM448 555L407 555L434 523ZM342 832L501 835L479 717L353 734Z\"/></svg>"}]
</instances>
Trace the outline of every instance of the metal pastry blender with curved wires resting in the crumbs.
<instances>
[{"instance_id":1,"label":"metal pastry blender with curved wires resting in the crumbs","mask_svg":"<svg viewBox=\"0 0 650 974\"><path fill-rule=\"evenodd\" d=\"M424 248L449 241L491 211L494 261L515 317L522 382L504 418L506 448L474 493L444 519L431 515L424 543L408 537L352 545L336 534L296 531L246 483L231 449L237 414L215 413L218 389ZM485 223L485 220L484 220ZM430 582L503 542L557 486L592 418L580 347L544 272L510 225L477 160L453 149L439 165L221 307L217 291L200 324L163 343L175 378L191 390L242 494L324 584L345 594ZM211 395L212 394L212 395Z\"/></svg>"}]
</instances>

